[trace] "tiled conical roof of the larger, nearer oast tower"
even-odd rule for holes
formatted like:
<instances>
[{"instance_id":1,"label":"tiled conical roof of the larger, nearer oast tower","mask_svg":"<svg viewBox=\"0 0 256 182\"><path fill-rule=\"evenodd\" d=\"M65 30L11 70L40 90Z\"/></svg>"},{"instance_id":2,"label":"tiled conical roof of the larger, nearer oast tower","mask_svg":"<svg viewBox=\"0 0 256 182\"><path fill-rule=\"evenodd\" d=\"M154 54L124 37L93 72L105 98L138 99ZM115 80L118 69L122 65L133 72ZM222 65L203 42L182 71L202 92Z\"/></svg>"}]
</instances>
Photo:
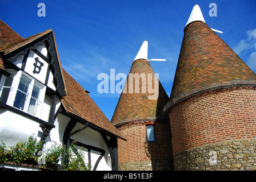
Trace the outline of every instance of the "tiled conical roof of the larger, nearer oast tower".
<instances>
[{"instance_id":1,"label":"tiled conical roof of the larger, nearer oast tower","mask_svg":"<svg viewBox=\"0 0 256 182\"><path fill-rule=\"evenodd\" d=\"M165 111L195 94L242 85L256 86L255 73L202 19L189 22Z\"/></svg>"}]
</instances>

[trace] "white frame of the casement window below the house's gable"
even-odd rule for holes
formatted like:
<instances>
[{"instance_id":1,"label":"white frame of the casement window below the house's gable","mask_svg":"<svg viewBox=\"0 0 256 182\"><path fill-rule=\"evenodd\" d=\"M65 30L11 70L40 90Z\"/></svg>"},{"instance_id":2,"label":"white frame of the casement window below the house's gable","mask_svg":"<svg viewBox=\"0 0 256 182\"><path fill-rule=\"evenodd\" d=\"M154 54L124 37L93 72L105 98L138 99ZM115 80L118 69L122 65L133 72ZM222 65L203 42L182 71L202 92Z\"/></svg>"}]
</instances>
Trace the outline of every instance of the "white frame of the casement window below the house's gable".
<instances>
[{"instance_id":1,"label":"white frame of the casement window below the house's gable","mask_svg":"<svg viewBox=\"0 0 256 182\"><path fill-rule=\"evenodd\" d=\"M22 72L22 71L15 72L13 70L8 70L8 72L10 72L11 75L14 75L14 76L13 76L13 82L10 86L10 93L9 93L8 99L6 101L6 104L14 107L13 105L14 105L16 94L17 94L19 82L21 80L21 77L24 76L25 78L30 80L30 84L29 84L29 88L28 88L28 93L25 93L25 94L27 94L27 97L26 97L25 105L24 105L22 111L24 111L25 113L31 114L31 113L29 113L29 105L30 105L30 100L31 100L31 94L33 92L33 87L34 87L34 85L36 85L40 89L38 99L36 99L38 103L37 103L37 108L36 108L35 113L31 114L31 115L34 115L35 117L40 118L41 114L42 114L42 106L43 106L43 100L45 98L46 86L41 84L41 82L39 82L38 80L35 80L35 78L29 76L25 72ZM5 82L5 80L6 80L6 77L2 76L2 78L0 80L0 83L1 83L0 96L2 94L2 85ZM21 92L21 91L19 91L19 92ZM17 107L15 107L15 108L17 108ZM17 109L19 109L19 108L17 108ZM19 110L21 110L21 109L19 109Z\"/></svg>"}]
</instances>

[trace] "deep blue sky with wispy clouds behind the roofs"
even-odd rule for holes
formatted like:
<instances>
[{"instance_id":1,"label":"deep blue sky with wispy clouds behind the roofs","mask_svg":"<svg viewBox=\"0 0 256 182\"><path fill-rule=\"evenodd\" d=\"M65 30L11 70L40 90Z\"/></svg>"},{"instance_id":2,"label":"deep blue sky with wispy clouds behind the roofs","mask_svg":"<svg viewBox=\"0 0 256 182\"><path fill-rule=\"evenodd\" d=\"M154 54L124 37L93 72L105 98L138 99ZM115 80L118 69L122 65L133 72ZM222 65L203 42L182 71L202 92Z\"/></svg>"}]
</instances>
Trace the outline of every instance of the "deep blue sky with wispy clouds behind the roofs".
<instances>
[{"instance_id":1,"label":"deep blue sky with wispy clouds behind the roofs","mask_svg":"<svg viewBox=\"0 0 256 182\"><path fill-rule=\"evenodd\" d=\"M38 3L45 3L46 16L37 15ZM210 3L217 5L217 16L209 15ZM222 31L217 34L255 72L255 0L0 0L0 19L23 38L53 29L62 67L111 119L119 94L99 94L97 76L110 75L110 69L127 75L148 40L149 59L167 60L150 64L170 96L183 30L195 4L207 25Z\"/></svg>"}]
</instances>

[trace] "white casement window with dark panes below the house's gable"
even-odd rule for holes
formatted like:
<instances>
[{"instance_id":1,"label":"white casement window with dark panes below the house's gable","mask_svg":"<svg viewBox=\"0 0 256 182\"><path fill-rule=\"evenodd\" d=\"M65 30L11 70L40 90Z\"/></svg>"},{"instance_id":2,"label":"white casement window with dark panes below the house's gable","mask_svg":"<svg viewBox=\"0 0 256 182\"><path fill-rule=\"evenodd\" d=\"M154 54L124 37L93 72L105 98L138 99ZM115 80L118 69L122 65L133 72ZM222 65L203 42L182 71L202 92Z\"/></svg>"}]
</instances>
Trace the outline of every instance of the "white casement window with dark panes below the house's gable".
<instances>
[{"instance_id":1,"label":"white casement window with dark panes below the house's gable","mask_svg":"<svg viewBox=\"0 0 256 182\"><path fill-rule=\"evenodd\" d=\"M0 84L0 102L41 117L46 86L22 71L2 76Z\"/></svg>"}]
</instances>

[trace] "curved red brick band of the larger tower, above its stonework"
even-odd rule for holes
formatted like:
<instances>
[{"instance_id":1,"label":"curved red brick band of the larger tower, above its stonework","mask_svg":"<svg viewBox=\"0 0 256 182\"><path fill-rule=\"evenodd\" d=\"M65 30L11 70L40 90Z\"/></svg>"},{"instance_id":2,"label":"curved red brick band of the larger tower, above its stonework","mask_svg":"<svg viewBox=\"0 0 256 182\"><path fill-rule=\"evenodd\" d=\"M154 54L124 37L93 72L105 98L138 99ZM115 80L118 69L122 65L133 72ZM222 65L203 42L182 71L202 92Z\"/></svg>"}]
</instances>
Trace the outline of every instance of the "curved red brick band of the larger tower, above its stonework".
<instances>
[{"instance_id":1,"label":"curved red brick band of the larger tower, above its stonework","mask_svg":"<svg viewBox=\"0 0 256 182\"><path fill-rule=\"evenodd\" d=\"M256 91L230 88L199 94L169 111L173 153L256 136Z\"/></svg>"}]
</instances>

